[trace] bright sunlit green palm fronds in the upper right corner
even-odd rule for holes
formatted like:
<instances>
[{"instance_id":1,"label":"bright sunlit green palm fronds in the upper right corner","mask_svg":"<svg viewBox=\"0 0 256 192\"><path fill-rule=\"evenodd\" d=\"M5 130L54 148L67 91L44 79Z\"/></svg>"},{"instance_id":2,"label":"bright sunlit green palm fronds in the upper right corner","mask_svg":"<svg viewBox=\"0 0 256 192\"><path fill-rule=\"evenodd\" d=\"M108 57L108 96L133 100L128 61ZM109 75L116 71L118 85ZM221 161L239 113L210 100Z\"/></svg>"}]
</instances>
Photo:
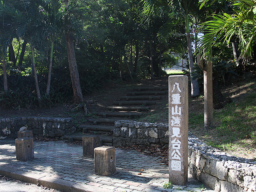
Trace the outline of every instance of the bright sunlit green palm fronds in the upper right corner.
<instances>
[{"instance_id":1,"label":"bright sunlit green palm fronds in the upper right corner","mask_svg":"<svg viewBox=\"0 0 256 192\"><path fill-rule=\"evenodd\" d=\"M205 35L200 38L202 49L205 49L204 52L201 51L203 56L209 55L212 45L218 40L223 40L227 45L236 40L241 49L241 58L256 55L256 14L253 12L256 3L253 0L246 0L234 6L234 14L214 15L212 20L202 24L205 31ZM212 56L208 58L209 61L212 60Z\"/></svg>"}]
</instances>

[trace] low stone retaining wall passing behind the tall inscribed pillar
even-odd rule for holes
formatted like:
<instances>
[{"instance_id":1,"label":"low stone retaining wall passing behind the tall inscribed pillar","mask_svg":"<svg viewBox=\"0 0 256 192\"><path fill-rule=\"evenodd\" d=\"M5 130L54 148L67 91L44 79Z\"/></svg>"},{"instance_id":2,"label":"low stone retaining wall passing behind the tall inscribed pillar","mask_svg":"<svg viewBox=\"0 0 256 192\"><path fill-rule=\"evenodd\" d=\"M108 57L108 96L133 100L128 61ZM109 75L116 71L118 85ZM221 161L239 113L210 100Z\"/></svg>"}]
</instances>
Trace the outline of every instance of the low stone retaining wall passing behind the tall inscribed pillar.
<instances>
[{"instance_id":1,"label":"low stone retaining wall passing behind the tall inscribed pillar","mask_svg":"<svg viewBox=\"0 0 256 192\"><path fill-rule=\"evenodd\" d=\"M167 124L116 121L113 145L166 145ZM189 174L217 192L256 191L256 162L229 156L189 133Z\"/></svg>"}]
</instances>

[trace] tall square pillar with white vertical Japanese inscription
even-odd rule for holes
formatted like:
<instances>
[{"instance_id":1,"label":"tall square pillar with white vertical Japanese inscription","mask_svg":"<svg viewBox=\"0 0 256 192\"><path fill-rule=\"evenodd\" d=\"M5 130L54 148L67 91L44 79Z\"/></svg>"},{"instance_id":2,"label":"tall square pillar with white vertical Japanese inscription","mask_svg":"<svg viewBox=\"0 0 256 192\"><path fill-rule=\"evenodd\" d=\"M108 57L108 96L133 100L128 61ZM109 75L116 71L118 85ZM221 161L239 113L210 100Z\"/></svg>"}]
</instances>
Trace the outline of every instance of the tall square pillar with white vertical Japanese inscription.
<instances>
[{"instance_id":1,"label":"tall square pillar with white vertical Japanese inscription","mask_svg":"<svg viewBox=\"0 0 256 192\"><path fill-rule=\"evenodd\" d=\"M188 78L169 76L169 181L184 185L188 169Z\"/></svg>"}]
</instances>

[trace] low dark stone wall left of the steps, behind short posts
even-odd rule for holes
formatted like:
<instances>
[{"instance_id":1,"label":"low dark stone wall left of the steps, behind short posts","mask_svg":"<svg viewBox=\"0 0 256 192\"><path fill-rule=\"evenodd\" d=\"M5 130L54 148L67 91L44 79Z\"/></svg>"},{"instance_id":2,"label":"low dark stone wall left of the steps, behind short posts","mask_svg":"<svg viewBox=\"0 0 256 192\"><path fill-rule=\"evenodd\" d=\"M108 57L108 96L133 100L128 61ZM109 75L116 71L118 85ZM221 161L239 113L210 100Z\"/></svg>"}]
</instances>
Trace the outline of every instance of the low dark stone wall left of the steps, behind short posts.
<instances>
[{"instance_id":1,"label":"low dark stone wall left of the steps, behind short posts","mask_svg":"<svg viewBox=\"0 0 256 192\"><path fill-rule=\"evenodd\" d=\"M74 133L76 128L73 124L73 118L44 118L44 117L26 117L26 118L3 118L0 119L0 137L15 137L19 129L23 126L33 131L35 137L60 138L64 135Z\"/></svg>"}]
</instances>

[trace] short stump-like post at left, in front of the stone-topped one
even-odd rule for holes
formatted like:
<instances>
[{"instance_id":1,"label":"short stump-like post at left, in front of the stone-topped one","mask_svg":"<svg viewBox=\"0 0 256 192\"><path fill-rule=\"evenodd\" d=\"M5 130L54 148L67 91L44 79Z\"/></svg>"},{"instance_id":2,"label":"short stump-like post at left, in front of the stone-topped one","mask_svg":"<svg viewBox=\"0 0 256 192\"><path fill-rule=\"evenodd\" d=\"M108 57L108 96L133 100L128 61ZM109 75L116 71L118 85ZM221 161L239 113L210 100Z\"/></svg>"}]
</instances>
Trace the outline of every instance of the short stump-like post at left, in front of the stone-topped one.
<instances>
[{"instance_id":1,"label":"short stump-like post at left, in front of the stone-topped one","mask_svg":"<svg viewBox=\"0 0 256 192\"><path fill-rule=\"evenodd\" d=\"M17 138L15 139L16 159L27 161L34 159L34 144L33 138Z\"/></svg>"}]
</instances>

